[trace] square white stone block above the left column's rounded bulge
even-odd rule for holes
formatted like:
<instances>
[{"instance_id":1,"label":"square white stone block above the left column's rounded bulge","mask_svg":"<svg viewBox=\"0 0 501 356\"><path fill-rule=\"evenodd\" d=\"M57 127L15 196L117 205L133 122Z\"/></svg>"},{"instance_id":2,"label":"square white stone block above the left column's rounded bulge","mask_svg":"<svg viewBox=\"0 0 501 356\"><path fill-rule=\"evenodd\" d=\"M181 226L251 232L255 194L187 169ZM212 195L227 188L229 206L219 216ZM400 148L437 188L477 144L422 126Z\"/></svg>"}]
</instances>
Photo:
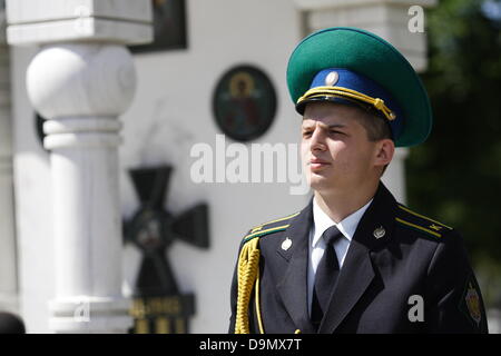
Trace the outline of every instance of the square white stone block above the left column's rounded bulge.
<instances>
[{"instance_id":1,"label":"square white stone block above the left column's rounded bulge","mask_svg":"<svg viewBox=\"0 0 501 356\"><path fill-rule=\"evenodd\" d=\"M7 0L9 44L153 40L149 0Z\"/></svg>"}]
</instances>

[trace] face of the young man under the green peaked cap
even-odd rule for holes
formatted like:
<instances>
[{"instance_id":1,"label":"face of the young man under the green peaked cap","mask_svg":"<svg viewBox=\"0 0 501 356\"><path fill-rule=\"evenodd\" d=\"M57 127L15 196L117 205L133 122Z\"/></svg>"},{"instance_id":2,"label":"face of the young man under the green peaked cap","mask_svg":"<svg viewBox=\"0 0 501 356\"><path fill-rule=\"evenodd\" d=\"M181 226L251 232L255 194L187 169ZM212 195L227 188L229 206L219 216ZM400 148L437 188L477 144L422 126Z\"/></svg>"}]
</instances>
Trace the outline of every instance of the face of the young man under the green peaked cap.
<instances>
[{"instance_id":1,"label":"face of the young man under the green peaked cap","mask_svg":"<svg viewBox=\"0 0 501 356\"><path fill-rule=\"evenodd\" d=\"M308 184L315 191L346 194L366 186L367 180L379 180L384 165L380 157L382 141L369 140L361 120L356 119L360 115L364 112L345 105L306 106L302 159Z\"/></svg>"}]
</instances>

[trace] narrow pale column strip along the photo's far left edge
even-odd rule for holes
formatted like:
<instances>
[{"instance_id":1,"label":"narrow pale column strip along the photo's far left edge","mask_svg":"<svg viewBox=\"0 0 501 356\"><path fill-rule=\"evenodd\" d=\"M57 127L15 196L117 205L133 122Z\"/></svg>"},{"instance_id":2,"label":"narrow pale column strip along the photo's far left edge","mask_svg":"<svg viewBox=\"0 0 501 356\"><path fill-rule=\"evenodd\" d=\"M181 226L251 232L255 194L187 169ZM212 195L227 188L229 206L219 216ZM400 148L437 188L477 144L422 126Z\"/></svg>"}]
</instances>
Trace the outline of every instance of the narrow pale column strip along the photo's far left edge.
<instances>
[{"instance_id":1,"label":"narrow pale column strip along the photo's far left edge","mask_svg":"<svg viewBox=\"0 0 501 356\"><path fill-rule=\"evenodd\" d=\"M0 9L0 309L17 313L10 66L4 31L6 17Z\"/></svg>"}]
</instances>

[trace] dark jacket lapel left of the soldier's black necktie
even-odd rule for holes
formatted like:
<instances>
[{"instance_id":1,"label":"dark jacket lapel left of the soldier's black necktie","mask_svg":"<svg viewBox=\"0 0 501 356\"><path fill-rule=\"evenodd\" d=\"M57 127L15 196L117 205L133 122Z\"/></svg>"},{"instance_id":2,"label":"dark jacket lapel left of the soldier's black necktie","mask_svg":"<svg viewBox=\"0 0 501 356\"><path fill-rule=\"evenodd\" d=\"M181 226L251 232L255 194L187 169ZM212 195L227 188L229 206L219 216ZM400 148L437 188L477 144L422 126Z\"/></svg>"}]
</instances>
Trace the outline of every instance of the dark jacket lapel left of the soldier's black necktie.
<instances>
[{"instance_id":1,"label":"dark jacket lapel left of the soldier's black necktie","mask_svg":"<svg viewBox=\"0 0 501 356\"><path fill-rule=\"evenodd\" d=\"M291 221L291 226L285 231L286 238L292 240L292 248L283 250L278 247L277 249L277 254L288 261L284 277L278 281L277 290L287 313L302 333L314 333L307 309L308 240L310 227L313 224L312 201Z\"/></svg>"}]
</instances>

